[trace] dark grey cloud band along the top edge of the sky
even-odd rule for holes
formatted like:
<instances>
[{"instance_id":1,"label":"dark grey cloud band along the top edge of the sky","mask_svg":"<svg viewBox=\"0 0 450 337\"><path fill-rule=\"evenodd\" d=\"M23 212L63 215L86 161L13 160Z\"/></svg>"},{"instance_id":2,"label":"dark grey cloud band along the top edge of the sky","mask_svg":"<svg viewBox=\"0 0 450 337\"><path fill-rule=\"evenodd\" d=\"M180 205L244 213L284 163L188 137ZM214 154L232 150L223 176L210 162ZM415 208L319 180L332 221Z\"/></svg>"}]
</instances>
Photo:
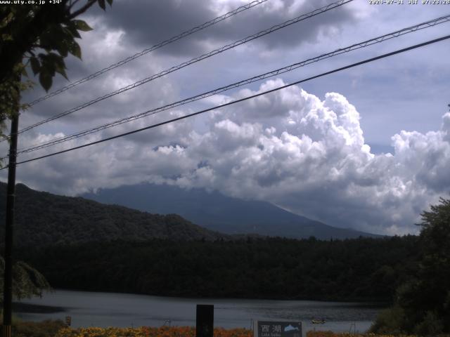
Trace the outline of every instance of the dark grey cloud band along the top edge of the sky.
<instances>
[{"instance_id":1,"label":"dark grey cloud band along the top edge of the sky","mask_svg":"<svg viewBox=\"0 0 450 337\"><path fill-rule=\"evenodd\" d=\"M209 51L205 46L205 41L214 46L237 41L332 2L329 0L304 1L302 4L296 5L296 1L290 0L279 3L281 7L277 7L275 10L271 7L274 6L274 3L271 4L269 0L267 3L239 13L224 22L177 41L175 44L165 46L158 53L197 55ZM237 4L230 6L231 8L238 7ZM133 44L147 48L218 15L219 13L208 7L206 1L135 0L115 2L112 10L105 15L104 19L105 24L109 27L123 29L127 34L127 39ZM319 34L327 34L330 29L335 29L352 20L354 20L352 8L344 5L328 13L310 18L306 22L296 23L285 28L283 34L269 34L269 36L258 39L258 43L262 45L263 49L295 47L304 41L316 41Z\"/></svg>"}]
</instances>

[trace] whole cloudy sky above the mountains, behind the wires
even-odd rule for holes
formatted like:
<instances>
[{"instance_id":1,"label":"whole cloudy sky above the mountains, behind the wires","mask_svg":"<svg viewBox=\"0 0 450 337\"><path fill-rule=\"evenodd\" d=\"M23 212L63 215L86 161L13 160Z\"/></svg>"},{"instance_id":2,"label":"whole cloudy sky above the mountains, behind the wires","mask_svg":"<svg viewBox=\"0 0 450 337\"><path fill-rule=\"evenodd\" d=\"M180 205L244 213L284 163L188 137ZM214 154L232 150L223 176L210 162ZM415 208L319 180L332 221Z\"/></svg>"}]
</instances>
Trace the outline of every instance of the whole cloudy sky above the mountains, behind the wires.
<instances>
[{"instance_id":1,"label":"whole cloudy sky above the mountains, behind the wires","mask_svg":"<svg viewBox=\"0 0 450 337\"><path fill-rule=\"evenodd\" d=\"M76 81L248 4L240 0L115 0L81 18L91 27L68 57ZM20 128L332 3L267 0L34 105ZM189 98L279 67L450 14L450 5L354 0L20 134L19 149ZM442 37L450 23L343 53L19 160L100 140L245 98ZM449 40L306 81L141 133L20 164L18 182L75 196L136 183L217 190L269 201L336 227L416 234L420 213L450 191ZM69 82L56 77L51 89ZM35 86L30 102L45 92ZM6 154L5 142L0 150ZM6 180L6 170L0 171Z\"/></svg>"}]
</instances>

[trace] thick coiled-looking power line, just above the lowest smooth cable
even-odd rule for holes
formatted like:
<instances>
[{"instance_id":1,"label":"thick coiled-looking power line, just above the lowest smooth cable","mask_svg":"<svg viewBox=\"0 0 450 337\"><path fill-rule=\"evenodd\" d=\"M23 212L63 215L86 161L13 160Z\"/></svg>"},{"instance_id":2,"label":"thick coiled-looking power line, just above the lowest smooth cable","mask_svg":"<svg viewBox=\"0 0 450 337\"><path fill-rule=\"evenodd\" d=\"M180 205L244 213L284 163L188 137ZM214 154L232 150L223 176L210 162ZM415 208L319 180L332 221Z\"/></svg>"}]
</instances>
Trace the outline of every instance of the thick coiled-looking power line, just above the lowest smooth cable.
<instances>
[{"instance_id":1,"label":"thick coiled-looking power line, just above the lowest smooth cable","mask_svg":"<svg viewBox=\"0 0 450 337\"><path fill-rule=\"evenodd\" d=\"M295 70L295 69L297 69L299 67L304 67L305 65L309 65L309 64L311 64L313 62L319 62L320 60L324 60L326 58L331 58L331 57L333 57L335 55L340 55L342 53L348 53L349 51L354 51L356 49L364 48L366 46L371 46L373 44L379 44L379 43L381 43L383 41L386 41L388 39L392 39L394 37L399 37L399 36L404 35L404 34L408 34L408 33L411 33L411 32L416 32L419 29L425 29L425 28L428 28L428 27L433 27L435 25L439 25L441 23L449 22L449 21L450 21L450 15L446 15L446 16L443 16L443 17L440 17L440 18L435 18L433 20L428 20L428 21L422 22L422 23L420 23L418 25L413 25L411 27L406 27L404 29L400 29L400 30L397 30L397 31L389 33L389 34L385 34L385 35L382 35L380 37L375 37L373 39L369 39L369 40L366 40L366 41L363 41L363 42L359 42L358 44L352 44L352 46L347 46L345 48L340 48L340 49L338 49L336 51L333 51L331 53L326 53L326 54L323 54L323 55L319 55L319 56L317 56L315 58L309 58L307 60L294 63L293 65L288 65L287 67L282 67L282 68L279 68L277 70L272 70L271 72L266 72L264 74L260 74L260 75L257 75L255 77L250 77L249 79L245 79L243 81L238 81L238 82L235 82L233 84L229 84L228 86L222 86L222 87L216 88L216 89L214 89L212 91L207 91L206 93L201 93L199 95L192 96L191 98L186 98L184 100L179 100L178 102L175 102L175 103L170 103L170 104L164 105L162 107L157 107L155 109L151 109L151 110L148 110L146 112L142 112L140 114L136 114L134 116L125 117L125 118L122 118L122 119L118 119L116 121L112 121L112 122L110 122L108 124L103 124L101 126L96 126L94 128L89 128L87 130L84 130L84 131L81 131L81 132L78 132L78 133L73 133L70 136L64 136L64 137L60 137L60 138L55 138L53 140L48 140L48 141L45 141L45 142L37 143L37 144L34 144L34 145L30 146L30 147L26 147L26 148L20 149L18 151L18 154L20 154L20 153L27 153L27 152L33 152L33 151L36 151L36 150L43 149L45 147L49 147L49 146L52 146L52 145L56 145L56 144L67 142L68 140L80 138L82 136L87 136L87 135L89 135L91 133L96 133L98 131L105 130L106 128L112 128L113 126L118 126L120 124L124 124L124 123L127 123L129 121L134 121L136 119L147 117L147 116L152 115L152 114L157 114L159 112L162 112L162 111L165 111L165 110L169 110L169 109L172 109L174 107L179 107L180 105L185 105L185 104L194 102L196 100L201 100L203 98L207 98L207 97L210 97L211 95L216 95L217 93L222 93L224 91L228 91L231 88L238 88L240 86L244 86L245 84L251 84L251 83L253 83L255 81L260 81L262 79L266 79L266 78L269 78L269 77L274 77L274 76L276 76L278 74L283 74L285 72L290 72L292 70Z\"/></svg>"}]
</instances>

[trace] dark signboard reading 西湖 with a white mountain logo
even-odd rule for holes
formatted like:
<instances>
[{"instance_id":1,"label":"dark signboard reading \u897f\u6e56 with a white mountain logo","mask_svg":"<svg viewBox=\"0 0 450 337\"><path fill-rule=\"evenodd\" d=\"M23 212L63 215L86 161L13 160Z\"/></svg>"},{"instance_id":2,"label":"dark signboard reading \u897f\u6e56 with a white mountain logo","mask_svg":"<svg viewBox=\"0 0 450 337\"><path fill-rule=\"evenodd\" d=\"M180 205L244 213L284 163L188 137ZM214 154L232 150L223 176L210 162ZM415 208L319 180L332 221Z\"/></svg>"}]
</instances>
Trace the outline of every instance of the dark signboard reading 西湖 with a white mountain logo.
<instances>
[{"instance_id":1,"label":"dark signboard reading \u897f\u6e56 with a white mountain logo","mask_svg":"<svg viewBox=\"0 0 450 337\"><path fill-rule=\"evenodd\" d=\"M302 322L255 321L254 337L302 337Z\"/></svg>"}]
</instances>

